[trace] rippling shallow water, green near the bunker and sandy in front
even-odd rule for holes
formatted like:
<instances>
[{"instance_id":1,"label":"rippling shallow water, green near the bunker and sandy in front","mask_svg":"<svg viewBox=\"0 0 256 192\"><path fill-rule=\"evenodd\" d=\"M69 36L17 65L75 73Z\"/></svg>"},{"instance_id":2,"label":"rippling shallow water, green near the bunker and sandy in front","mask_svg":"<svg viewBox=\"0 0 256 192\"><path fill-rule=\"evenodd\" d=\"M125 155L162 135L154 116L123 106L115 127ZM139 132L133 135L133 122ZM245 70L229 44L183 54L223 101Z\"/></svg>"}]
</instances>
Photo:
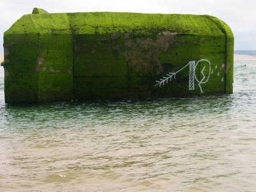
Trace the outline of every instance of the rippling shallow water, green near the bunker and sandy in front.
<instances>
[{"instance_id":1,"label":"rippling shallow water, green near the bunker and sandy in front","mask_svg":"<svg viewBox=\"0 0 256 192\"><path fill-rule=\"evenodd\" d=\"M154 101L9 106L0 74L0 191L256 191L256 61L232 95Z\"/></svg>"}]
</instances>

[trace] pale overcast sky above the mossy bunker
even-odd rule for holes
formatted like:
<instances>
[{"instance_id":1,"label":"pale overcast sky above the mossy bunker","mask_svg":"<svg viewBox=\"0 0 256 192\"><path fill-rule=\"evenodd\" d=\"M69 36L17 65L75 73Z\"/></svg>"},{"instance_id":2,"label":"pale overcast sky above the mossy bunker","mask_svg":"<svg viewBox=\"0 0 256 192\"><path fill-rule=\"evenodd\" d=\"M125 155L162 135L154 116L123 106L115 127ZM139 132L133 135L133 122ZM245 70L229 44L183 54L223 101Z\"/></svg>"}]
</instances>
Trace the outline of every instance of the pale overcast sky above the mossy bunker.
<instances>
[{"instance_id":1,"label":"pale overcast sky above the mossy bunker","mask_svg":"<svg viewBox=\"0 0 256 192\"><path fill-rule=\"evenodd\" d=\"M254 0L0 0L0 52L3 33L34 7L47 12L191 13L218 17L232 28L236 50L256 50Z\"/></svg>"}]
</instances>

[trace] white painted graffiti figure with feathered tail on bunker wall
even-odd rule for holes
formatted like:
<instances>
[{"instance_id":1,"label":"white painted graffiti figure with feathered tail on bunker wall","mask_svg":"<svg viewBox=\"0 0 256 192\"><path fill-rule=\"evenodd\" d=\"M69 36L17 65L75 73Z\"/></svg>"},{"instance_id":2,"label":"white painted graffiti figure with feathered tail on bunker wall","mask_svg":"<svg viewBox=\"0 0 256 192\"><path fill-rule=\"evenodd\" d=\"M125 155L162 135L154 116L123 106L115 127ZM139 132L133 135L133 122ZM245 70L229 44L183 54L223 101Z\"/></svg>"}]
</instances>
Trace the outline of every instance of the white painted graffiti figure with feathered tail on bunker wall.
<instances>
[{"instance_id":1,"label":"white painted graffiti figure with feathered tail on bunker wall","mask_svg":"<svg viewBox=\"0 0 256 192\"><path fill-rule=\"evenodd\" d=\"M202 74L202 79L198 79L198 77L196 76L196 67L198 67L198 64L201 63L202 61L207 62L206 66L209 67L209 72L208 72L207 76L205 76L204 72L205 72L206 66L204 65L204 67L200 71L200 74ZM156 81L156 86L159 86L159 87L164 86L164 84L167 84L168 82L172 81L172 79L175 79L176 74L188 66L189 66L189 90L195 90L195 81L196 81L200 88L200 92L204 93L201 84L207 83L207 81L209 80L209 77L211 75L211 62L209 60L205 60L205 59L199 60L197 62L189 61L189 63L187 65L180 68L180 70L177 70L177 72L174 72L174 73L169 72L168 74L166 74L166 76L163 77L163 79L159 79L159 81Z\"/></svg>"}]
</instances>

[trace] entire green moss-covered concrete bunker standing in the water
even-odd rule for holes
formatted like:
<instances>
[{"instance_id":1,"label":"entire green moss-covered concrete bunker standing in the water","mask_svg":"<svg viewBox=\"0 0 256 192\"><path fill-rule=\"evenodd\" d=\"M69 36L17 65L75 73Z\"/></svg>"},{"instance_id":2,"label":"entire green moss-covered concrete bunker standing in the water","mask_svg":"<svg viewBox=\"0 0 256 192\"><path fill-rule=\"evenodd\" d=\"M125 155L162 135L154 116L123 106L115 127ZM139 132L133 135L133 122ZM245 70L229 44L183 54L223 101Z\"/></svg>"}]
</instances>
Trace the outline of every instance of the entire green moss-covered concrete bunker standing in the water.
<instances>
[{"instance_id":1,"label":"entire green moss-covered concrete bunker standing in the water","mask_svg":"<svg viewBox=\"0 0 256 192\"><path fill-rule=\"evenodd\" d=\"M6 102L232 93L234 36L209 15L35 8L4 33L4 56Z\"/></svg>"}]
</instances>

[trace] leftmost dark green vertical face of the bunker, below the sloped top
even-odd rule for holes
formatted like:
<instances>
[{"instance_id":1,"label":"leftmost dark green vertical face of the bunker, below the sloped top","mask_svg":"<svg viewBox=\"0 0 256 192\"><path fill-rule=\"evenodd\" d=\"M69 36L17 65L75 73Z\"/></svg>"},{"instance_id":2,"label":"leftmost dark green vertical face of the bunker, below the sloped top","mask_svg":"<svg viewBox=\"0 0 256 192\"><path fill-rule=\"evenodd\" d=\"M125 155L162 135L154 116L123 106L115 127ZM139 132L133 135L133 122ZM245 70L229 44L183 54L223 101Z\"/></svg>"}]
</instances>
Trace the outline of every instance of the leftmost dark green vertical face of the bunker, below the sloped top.
<instances>
[{"instance_id":1,"label":"leftmost dark green vertical face of the bunker, below the sloped top","mask_svg":"<svg viewBox=\"0 0 256 192\"><path fill-rule=\"evenodd\" d=\"M38 102L38 35L4 35L5 102Z\"/></svg>"}]
</instances>

